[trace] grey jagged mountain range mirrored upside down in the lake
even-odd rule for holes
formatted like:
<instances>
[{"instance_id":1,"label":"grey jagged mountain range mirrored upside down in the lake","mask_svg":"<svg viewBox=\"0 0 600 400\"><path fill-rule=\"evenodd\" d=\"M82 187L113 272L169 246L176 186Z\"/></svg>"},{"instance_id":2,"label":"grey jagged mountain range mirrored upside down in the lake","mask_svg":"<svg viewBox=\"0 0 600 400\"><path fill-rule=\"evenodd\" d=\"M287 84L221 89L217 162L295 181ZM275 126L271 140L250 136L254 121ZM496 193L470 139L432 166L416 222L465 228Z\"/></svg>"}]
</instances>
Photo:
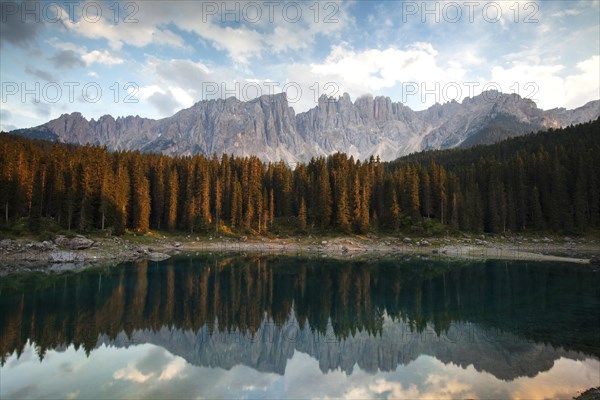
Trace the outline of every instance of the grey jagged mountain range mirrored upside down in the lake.
<instances>
[{"instance_id":1,"label":"grey jagged mountain range mirrored upside down in the lake","mask_svg":"<svg viewBox=\"0 0 600 400\"><path fill-rule=\"evenodd\" d=\"M483 329L468 323L452 324L447 335L438 336L433 327L423 332L411 332L404 322L386 318L381 335L357 332L345 339L336 339L333 331L325 335L305 326L300 329L294 319L283 327L264 321L253 335L240 332L216 332L207 326L192 331L162 328L134 331L109 340L100 338L98 345L117 347L151 343L198 366L231 369L245 365L261 372L284 374L287 361L294 351L310 355L319 361L323 373L341 369L350 375L355 366L363 371L393 371L420 355L430 355L441 362L463 368L473 365L499 379L513 380L533 377L552 368L561 357L582 360L586 356L576 351L535 343L511 333Z\"/></svg>"}]
</instances>

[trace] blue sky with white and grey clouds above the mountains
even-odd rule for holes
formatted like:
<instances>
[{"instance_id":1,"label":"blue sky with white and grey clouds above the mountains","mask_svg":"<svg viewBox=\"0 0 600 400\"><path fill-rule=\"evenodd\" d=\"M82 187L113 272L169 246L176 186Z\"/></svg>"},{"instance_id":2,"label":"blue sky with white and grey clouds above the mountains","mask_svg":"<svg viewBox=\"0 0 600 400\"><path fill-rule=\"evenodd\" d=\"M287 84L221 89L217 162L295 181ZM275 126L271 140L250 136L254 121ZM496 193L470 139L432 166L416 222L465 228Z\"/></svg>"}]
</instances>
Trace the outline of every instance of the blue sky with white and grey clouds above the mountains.
<instances>
[{"instance_id":1,"label":"blue sky with white and grey clouds above the mountains","mask_svg":"<svg viewBox=\"0 0 600 400\"><path fill-rule=\"evenodd\" d=\"M214 98L388 96L414 110L484 90L538 107L600 98L600 0L0 0L0 129L164 118Z\"/></svg>"}]
</instances>

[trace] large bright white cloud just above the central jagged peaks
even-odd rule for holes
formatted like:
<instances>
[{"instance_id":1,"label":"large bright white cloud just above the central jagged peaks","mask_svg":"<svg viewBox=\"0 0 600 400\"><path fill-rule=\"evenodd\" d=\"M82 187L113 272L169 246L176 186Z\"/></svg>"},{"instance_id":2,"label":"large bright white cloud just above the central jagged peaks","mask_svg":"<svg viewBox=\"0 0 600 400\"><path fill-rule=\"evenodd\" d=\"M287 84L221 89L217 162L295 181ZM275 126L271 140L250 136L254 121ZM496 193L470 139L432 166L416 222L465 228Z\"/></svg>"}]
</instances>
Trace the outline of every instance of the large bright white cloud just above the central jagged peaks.
<instances>
[{"instance_id":1,"label":"large bright white cloud just above the central jagged peaks","mask_svg":"<svg viewBox=\"0 0 600 400\"><path fill-rule=\"evenodd\" d=\"M280 69L280 82L285 83L287 76L294 77L294 82L302 88L302 97L292 104L296 112L314 107L323 94L336 97L348 92L361 96L392 91L394 100L400 101L405 84L436 88L448 82L462 83L467 73L459 63L441 59L433 45L425 42L414 42L404 49L362 51L342 43L333 46L322 62L288 64ZM290 97L293 96L288 93L288 99ZM441 96L428 96L424 100L415 96L417 98L420 107L441 101Z\"/></svg>"}]
</instances>

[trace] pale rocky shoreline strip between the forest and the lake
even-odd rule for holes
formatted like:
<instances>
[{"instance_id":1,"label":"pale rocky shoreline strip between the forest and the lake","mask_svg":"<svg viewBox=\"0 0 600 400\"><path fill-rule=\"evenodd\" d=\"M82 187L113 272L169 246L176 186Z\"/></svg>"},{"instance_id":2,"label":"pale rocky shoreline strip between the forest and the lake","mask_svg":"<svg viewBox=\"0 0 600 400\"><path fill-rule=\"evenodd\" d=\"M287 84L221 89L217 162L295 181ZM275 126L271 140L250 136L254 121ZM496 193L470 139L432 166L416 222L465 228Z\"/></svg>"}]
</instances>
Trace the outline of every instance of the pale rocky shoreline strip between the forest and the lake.
<instances>
[{"instance_id":1,"label":"pale rocky shoreline strip between the forest and the lake","mask_svg":"<svg viewBox=\"0 0 600 400\"><path fill-rule=\"evenodd\" d=\"M176 240L178 239L178 240ZM26 238L0 240L0 275L30 269L66 271L99 264L149 259L160 261L181 253L260 253L311 255L358 259L418 255L469 260L529 260L588 264L600 254L600 243L590 239L442 237L409 238L341 237L170 237L158 234L121 237L71 238L58 235L52 241ZM583 256L585 255L585 256Z\"/></svg>"}]
</instances>

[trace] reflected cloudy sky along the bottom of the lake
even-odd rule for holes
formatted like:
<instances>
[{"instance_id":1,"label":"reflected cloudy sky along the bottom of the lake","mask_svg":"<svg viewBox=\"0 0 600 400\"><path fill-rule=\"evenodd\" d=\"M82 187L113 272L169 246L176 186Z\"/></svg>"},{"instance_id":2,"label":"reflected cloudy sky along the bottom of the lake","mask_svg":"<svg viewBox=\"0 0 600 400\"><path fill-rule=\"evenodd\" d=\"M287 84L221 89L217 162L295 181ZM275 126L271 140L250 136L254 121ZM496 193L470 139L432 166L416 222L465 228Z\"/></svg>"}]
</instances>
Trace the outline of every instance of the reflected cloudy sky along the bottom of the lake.
<instances>
[{"instance_id":1,"label":"reflected cloudy sky along the bottom of the lake","mask_svg":"<svg viewBox=\"0 0 600 400\"><path fill-rule=\"evenodd\" d=\"M600 362L593 359L561 358L549 371L507 382L473 365L444 364L431 356L378 374L355 365L347 375L341 369L323 374L317 360L296 351L281 376L242 365L198 367L148 344L100 346L89 358L72 347L48 353L50 361L40 363L28 346L18 365L9 359L0 397L568 398L597 386L600 374ZM72 372L65 374L67 369Z\"/></svg>"}]
</instances>

